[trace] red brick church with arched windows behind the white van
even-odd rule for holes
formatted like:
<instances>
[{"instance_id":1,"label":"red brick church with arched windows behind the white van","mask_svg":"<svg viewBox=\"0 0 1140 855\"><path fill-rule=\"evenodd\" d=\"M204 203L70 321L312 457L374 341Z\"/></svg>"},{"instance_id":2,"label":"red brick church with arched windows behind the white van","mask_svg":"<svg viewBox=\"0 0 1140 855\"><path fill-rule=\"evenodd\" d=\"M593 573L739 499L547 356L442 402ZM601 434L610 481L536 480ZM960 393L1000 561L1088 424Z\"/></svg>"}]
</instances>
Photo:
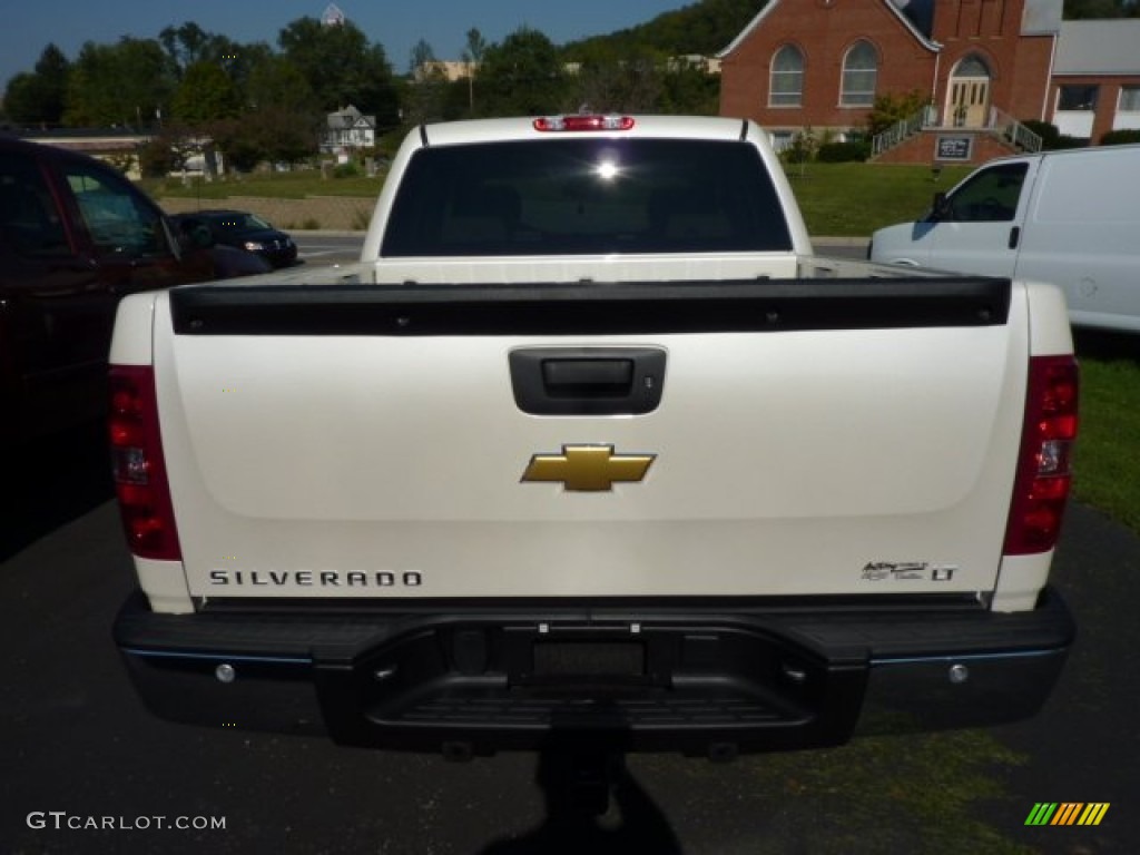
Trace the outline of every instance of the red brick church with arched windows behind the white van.
<instances>
[{"instance_id":1,"label":"red brick church with arched windows behind the white van","mask_svg":"<svg viewBox=\"0 0 1140 855\"><path fill-rule=\"evenodd\" d=\"M1061 0L769 0L719 55L720 113L757 120L781 147L805 128L842 139L877 95L918 91L929 106L876 155L922 163L1033 148L1019 121L1053 121L1059 105L1112 113L1088 122L1090 136L1131 127L1115 114L1140 111L1140 21L1091 22L1121 44L1112 58L1089 23L1062 22ZM1109 109L1077 85L1117 100Z\"/></svg>"}]
</instances>

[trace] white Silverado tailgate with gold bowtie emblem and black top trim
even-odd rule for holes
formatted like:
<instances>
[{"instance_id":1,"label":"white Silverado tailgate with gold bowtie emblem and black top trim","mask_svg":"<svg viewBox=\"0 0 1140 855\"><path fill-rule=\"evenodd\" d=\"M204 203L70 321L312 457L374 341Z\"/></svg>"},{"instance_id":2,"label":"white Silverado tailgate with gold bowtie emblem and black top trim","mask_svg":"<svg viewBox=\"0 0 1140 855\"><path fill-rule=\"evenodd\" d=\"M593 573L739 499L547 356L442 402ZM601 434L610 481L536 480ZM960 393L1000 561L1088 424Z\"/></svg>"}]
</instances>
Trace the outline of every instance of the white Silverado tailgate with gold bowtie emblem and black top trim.
<instances>
[{"instance_id":1,"label":"white Silverado tailgate with gold bowtie emblem and black top trim","mask_svg":"<svg viewBox=\"0 0 1140 855\"><path fill-rule=\"evenodd\" d=\"M995 585L1028 352L1009 282L197 286L155 300L195 597ZM527 370L537 407L519 389ZM622 396L646 389L645 412L627 410Z\"/></svg>"}]
</instances>

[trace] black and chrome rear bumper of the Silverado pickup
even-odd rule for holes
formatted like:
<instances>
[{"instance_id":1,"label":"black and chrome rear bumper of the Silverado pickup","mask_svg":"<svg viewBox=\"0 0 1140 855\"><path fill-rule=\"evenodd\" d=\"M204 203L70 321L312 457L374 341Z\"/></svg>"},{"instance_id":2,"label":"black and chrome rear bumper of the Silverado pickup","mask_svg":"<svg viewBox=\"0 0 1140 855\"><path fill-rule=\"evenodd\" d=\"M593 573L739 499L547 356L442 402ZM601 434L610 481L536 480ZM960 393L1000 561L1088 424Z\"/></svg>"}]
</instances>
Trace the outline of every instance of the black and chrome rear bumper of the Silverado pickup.
<instances>
[{"instance_id":1,"label":"black and chrome rear bumper of the Silverado pickup","mask_svg":"<svg viewBox=\"0 0 1140 855\"><path fill-rule=\"evenodd\" d=\"M454 756L588 739L735 754L1034 715L1075 627L979 609L453 608L154 614L115 641L156 715Z\"/></svg>"}]
</instances>

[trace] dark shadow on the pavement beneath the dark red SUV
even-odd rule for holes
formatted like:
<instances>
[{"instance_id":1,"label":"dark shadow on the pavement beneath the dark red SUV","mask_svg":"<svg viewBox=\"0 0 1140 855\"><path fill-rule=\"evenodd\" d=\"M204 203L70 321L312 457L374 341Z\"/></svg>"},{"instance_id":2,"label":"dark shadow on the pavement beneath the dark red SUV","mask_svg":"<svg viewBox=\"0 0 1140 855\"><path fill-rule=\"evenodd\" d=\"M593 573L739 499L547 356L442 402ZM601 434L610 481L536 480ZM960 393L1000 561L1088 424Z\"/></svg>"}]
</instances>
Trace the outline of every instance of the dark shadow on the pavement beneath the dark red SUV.
<instances>
[{"instance_id":1,"label":"dark shadow on the pavement beneath the dark red SUV","mask_svg":"<svg viewBox=\"0 0 1140 855\"><path fill-rule=\"evenodd\" d=\"M0 561L114 496L103 421L17 445L6 456Z\"/></svg>"}]
</instances>

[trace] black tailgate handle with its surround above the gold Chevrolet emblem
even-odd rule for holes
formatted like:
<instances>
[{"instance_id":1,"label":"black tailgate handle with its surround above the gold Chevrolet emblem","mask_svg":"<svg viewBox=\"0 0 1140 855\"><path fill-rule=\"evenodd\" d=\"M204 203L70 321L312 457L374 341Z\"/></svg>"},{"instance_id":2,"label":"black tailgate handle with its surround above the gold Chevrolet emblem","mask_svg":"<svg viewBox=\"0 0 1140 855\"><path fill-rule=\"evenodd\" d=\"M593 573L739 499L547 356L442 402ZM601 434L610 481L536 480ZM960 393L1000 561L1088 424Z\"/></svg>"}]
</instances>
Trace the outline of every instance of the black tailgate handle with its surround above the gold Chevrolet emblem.
<instances>
[{"instance_id":1,"label":"black tailgate handle with its surround above the gold Chevrolet emblem","mask_svg":"<svg viewBox=\"0 0 1140 855\"><path fill-rule=\"evenodd\" d=\"M523 348L511 386L536 416L644 415L661 402L665 363L660 348Z\"/></svg>"}]
</instances>

